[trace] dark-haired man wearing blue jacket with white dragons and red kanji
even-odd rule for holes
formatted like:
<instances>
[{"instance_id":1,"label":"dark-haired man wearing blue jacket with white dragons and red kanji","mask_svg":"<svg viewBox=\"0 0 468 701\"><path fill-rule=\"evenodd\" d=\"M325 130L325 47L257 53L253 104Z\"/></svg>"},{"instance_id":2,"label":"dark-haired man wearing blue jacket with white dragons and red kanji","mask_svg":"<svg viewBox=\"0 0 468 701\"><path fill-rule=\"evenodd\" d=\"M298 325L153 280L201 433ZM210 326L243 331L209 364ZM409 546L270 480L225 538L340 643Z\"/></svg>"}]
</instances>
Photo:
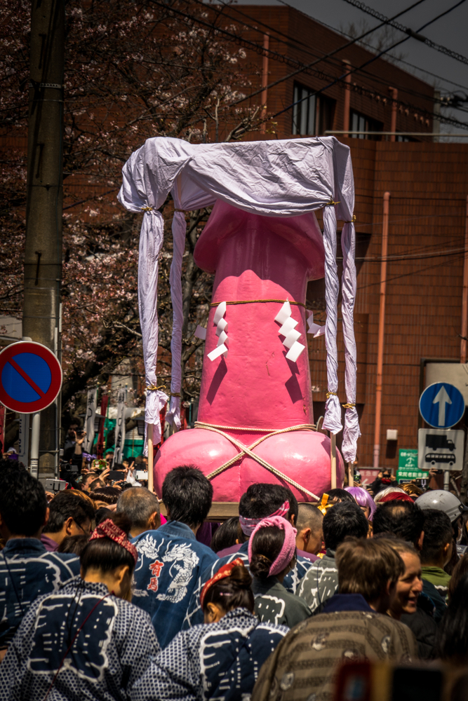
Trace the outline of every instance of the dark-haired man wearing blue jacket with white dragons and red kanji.
<instances>
[{"instance_id":1,"label":"dark-haired man wearing blue jacket with white dragons and red kanji","mask_svg":"<svg viewBox=\"0 0 468 701\"><path fill-rule=\"evenodd\" d=\"M192 595L199 597L201 574L218 557L196 540L213 498L213 486L201 470L168 472L162 497L168 522L132 541L138 550L132 601L149 613L164 648L182 629Z\"/></svg>"}]
</instances>

